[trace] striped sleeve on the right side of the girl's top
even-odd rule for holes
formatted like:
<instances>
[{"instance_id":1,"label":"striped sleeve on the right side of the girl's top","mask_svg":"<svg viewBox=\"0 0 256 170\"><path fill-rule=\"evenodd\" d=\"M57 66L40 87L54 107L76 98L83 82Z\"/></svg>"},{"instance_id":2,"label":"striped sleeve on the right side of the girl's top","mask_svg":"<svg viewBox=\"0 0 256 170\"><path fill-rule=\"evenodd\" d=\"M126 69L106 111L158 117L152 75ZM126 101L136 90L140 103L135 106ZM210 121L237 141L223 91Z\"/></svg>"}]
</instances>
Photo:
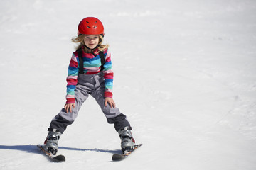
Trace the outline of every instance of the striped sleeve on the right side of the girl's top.
<instances>
[{"instance_id":1,"label":"striped sleeve on the right side of the girl's top","mask_svg":"<svg viewBox=\"0 0 256 170\"><path fill-rule=\"evenodd\" d=\"M112 62L111 55L109 50L105 50L105 64L103 69L104 79L105 79L105 97L112 98L112 89L113 89L113 70L112 70Z\"/></svg>"}]
</instances>

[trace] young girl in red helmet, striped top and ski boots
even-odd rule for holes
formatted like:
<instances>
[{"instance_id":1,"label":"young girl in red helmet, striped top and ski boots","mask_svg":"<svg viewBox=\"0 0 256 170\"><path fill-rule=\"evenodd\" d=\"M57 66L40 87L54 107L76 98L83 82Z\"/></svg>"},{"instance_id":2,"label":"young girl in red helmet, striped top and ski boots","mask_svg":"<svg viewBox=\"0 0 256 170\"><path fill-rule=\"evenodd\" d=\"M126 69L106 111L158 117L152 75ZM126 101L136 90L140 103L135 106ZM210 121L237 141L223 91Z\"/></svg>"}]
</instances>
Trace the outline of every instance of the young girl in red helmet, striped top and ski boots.
<instances>
[{"instance_id":1,"label":"young girl in red helmet, striped top and ski boots","mask_svg":"<svg viewBox=\"0 0 256 170\"><path fill-rule=\"evenodd\" d=\"M126 115L116 108L112 98L112 62L108 45L102 45L103 37L104 28L99 19L87 17L80 21L78 36L72 39L80 45L73 52L68 67L67 101L60 113L50 122L45 141L45 149L52 154L58 151L60 135L74 122L89 94L99 104L107 122L114 123L114 128L122 140L122 150L132 149L134 146L130 131L132 128Z\"/></svg>"}]
</instances>

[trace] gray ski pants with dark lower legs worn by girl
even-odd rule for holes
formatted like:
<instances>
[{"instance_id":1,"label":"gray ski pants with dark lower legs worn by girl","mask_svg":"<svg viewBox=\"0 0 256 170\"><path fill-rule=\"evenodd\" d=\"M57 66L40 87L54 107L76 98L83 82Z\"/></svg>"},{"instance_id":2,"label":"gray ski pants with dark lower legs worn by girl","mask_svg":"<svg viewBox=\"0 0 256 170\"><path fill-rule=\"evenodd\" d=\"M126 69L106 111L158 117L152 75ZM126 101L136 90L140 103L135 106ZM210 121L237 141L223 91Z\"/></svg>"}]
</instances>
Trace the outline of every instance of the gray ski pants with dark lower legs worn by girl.
<instances>
[{"instance_id":1,"label":"gray ski pants with dark lower legs worn by girl","mask_svg":"<svg viewBox=\"0 0 256 170\"><path fill-rule=\"evenodd\" d=\"M73 108L71 113L66 113L64 108L61 109L60 113L58 113L58 115L51 121L50 128L63 133L67 126L75 121L82 103L85 102L89 94L95 98L99 104L102 112L107 118L107 122L110 124L114 123L116 131L126 126L130 126L126 115L120 113L119 108L111 108L109 104L105 106L104 92L105 83L102 72L92 75L80 74L78 77L78 84L75 88L75 108Z\"/></svg>"}]
</instances>

